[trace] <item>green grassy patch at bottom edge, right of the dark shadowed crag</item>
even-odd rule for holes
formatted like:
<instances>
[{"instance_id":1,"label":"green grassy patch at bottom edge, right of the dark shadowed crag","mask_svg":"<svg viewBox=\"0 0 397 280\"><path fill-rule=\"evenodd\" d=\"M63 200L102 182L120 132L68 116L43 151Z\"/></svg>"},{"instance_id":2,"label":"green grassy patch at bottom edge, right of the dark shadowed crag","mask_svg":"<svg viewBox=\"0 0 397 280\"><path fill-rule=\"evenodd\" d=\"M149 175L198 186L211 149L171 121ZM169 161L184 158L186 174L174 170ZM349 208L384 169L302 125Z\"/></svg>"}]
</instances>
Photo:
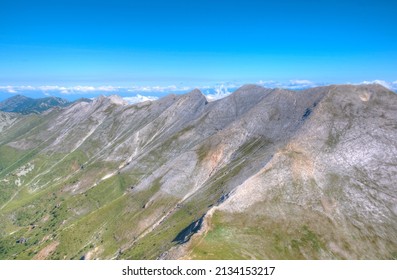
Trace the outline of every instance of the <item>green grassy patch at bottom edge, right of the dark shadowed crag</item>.
<instances>
[{"instance_id":1,"label":"green grassy patch at bottom edge, right of the dark shadowed crag","mask_svg":"<svg viewBox=\"0 0 397 280\"><path fill-rule=\"evenodd\" d=\"M209 231L190 246L193 259L317 259L325 243L308 224L216 211Z\"/></svg>"}]
</instances>

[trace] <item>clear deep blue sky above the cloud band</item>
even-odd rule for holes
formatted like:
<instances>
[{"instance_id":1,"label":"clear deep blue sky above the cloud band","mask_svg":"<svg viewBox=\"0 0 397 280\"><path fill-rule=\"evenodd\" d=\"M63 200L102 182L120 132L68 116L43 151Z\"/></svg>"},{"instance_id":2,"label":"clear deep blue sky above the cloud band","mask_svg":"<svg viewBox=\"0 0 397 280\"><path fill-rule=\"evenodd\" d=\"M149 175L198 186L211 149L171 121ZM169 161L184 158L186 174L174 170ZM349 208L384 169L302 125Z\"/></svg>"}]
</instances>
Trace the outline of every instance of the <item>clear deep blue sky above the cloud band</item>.
<instances>
[{"instance_id":1,"label":"clear deep blue sky above the cloud band","mask_svg":"<svg viewBox=\"0 0 397 280\"><path fill-rule=\"evenodd\" d=\"M1 0L0 94L18 86L43 94L43 86L393 83L396 12L392 0Z\"/></svg>"}]
</instances>

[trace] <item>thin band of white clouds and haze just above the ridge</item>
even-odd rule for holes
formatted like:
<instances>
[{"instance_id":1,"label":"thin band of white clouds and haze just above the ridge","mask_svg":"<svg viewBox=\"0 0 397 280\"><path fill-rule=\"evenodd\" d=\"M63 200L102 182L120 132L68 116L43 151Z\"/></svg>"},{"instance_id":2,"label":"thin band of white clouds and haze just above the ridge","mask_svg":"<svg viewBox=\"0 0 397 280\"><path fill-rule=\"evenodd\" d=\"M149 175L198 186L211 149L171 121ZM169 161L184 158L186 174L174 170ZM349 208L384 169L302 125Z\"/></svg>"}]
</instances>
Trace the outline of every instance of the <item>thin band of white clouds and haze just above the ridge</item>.
<instances>
[{"instance_id":1,"label":"thin band of white clouds and haze just above the ridge","mask_svg":"<svg viewBox=\"0 0 397 280\"><path fill-rule=\"evenodd\" d=\"M95 98L100 95L119 95L130 103L138 103L147 100L156 100L168 94L184 94L198 88L212 100L228 96L233 91L245 84L256 84L266 88L284 88L291 90L303 90L318 86L327 86L336 83L315 83L309 80L290 80L288 82L258 81L258 82L223 82L212 85L170 85L170 86L0 86L0 102L15 95L23 95L30 98L60 97L68 101L80 98ZM382 80L362 81L359 83L342 83L352 85L380 84L397 93L397 81L386 82Z\"/></svg>"}]
</instances>

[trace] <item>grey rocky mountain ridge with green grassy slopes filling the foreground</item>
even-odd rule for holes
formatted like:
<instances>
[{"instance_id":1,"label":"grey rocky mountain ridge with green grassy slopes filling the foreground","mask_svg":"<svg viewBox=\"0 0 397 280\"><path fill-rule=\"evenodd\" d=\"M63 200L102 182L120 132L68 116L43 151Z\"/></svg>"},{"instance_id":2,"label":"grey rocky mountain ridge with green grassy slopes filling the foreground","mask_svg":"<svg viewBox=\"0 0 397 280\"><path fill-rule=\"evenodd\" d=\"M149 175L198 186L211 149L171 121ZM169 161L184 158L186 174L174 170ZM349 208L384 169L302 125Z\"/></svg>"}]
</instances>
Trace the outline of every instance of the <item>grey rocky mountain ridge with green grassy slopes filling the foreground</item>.
<instances>
[{"instance_id":1,"label":"grey rocky mountain ridge with green grassy slopes filling the foreground","mask_svg":"<svg viewBox=\"0 0 397 280\"><path fill-rule=\"evenodd\" d=\"M396 182L379 85L0 112L0 258L395 259Z\"/></svg>"}]
</instances>

